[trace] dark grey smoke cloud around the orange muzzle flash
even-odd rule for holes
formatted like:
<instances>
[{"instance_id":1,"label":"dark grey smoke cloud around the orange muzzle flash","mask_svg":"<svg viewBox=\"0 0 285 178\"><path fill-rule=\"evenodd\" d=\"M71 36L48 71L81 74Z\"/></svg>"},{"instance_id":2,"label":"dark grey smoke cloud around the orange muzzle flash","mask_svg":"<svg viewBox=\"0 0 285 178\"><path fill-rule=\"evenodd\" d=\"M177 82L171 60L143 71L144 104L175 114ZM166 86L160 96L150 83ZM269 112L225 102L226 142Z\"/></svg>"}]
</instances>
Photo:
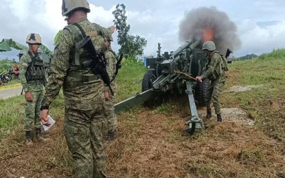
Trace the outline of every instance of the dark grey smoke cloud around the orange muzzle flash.
<instances>
[{"instance_id":1,"label":"dark grey smoke cloud around the orange muzzle flash","mask_svg":"<svg viewBox=\"0 0 285 178\"><path fill-rule=\"evenodd\" d=\"M240 48L240 38L236 35L237 27L229 20L225 12L220 12L216 7L197 8L187 12L179 24L179 40L201 39L203 29L212 29L212 41L216 49L225 55L227 48L234 51Z\"/></svg>"}]
</instances>

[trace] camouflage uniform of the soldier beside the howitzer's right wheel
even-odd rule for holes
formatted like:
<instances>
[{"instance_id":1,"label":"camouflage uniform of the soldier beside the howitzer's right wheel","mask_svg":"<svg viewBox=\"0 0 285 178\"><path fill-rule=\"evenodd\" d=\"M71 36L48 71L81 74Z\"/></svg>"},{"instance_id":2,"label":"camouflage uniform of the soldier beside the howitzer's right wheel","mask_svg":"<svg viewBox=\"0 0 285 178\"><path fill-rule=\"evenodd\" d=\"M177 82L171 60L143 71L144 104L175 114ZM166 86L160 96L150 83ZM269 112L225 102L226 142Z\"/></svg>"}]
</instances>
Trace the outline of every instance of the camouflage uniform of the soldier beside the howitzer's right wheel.
<instances>
[{"instance_id":1,"label":"camouflage uniform of the soldier beside the howitzer's right wheel","mask_svg":"<svg viewBox=\"0 0 285 178\"><path fill-rule=\"evenodd\" d=\"M203 79L209 79L209 86L206 90L207 109L210 109L213 102L215 113L220 114L219 96L223 90L226 81L225 70L222 68L222 57L218 51L213 51L207 61L207 71L201 76Z\"/></svg>"}]
</instances>

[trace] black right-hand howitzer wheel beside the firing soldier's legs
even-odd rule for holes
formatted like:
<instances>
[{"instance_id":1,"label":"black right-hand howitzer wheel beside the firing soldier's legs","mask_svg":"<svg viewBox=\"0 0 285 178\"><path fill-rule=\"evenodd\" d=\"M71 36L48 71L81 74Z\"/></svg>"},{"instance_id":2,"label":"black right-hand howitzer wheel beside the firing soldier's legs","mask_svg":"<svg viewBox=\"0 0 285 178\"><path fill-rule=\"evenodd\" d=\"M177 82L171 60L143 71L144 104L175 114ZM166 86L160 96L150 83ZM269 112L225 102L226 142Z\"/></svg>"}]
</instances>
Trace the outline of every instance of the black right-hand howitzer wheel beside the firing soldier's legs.
<instances>
[{"instance_id":1,"label":"black right-hand howitzer wheel beside the firing soldier's legs","mask_svg":"<svg viewBox=\"0 0 285 178\"><path fill-rule=\"evenodd\" d=\"M209 86L209 79L204 79L202 82L197 82L196 85L196 100L199 107L204 107L207 104L207 87Z\"/></svg>"}]
</instances>

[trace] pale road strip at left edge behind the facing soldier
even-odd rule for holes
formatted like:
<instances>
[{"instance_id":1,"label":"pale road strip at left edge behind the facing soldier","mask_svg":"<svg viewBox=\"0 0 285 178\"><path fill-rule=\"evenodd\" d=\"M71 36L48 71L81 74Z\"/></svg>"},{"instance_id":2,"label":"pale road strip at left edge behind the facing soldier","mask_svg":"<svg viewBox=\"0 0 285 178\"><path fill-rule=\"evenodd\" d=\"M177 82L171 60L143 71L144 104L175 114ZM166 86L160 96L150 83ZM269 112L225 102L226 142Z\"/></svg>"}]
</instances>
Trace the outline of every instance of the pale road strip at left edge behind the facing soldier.
<instances>
[{"instance_id":1,"label":"pale road strip at left edge behind the facing soldier","mask_svg":"<svg viewBox=\"0 0 285 178\"><path fill-rule=\"evenodd\" d=\"M0 87L0 99L8 99L10 97L15 97L21 94L22 86L21 84L13 84L9 86Z\"/></svg>"}]
</instances>

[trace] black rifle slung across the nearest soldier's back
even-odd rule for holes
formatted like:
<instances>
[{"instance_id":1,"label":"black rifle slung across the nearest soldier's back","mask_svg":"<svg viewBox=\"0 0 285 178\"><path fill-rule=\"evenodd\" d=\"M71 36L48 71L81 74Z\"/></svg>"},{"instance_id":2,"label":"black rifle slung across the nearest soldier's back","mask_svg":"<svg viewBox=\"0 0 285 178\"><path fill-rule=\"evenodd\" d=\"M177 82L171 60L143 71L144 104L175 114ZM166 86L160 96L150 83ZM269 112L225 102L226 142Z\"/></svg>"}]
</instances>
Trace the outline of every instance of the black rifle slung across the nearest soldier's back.
<instances>
[{"instance_id":1,"label":"black rifle slung across the nearest soldier's back","mask_svg":"<svg viewBox=\"0 0 285 178\"><path fill-rule=\"evenodd\" d=\"M104 53L97 53L90 36L86 36L79 44L78 48L81 49L82 47L86 49L88 53L91 54L91 60L85 62L83 65L90 66L91 71L95 75L100 75L102 80L104 81L104 84L109 87L111 94L114 95L114 92L110 86L110 77L106 71L106 59Z\"/></svg>"}]
</instances>

